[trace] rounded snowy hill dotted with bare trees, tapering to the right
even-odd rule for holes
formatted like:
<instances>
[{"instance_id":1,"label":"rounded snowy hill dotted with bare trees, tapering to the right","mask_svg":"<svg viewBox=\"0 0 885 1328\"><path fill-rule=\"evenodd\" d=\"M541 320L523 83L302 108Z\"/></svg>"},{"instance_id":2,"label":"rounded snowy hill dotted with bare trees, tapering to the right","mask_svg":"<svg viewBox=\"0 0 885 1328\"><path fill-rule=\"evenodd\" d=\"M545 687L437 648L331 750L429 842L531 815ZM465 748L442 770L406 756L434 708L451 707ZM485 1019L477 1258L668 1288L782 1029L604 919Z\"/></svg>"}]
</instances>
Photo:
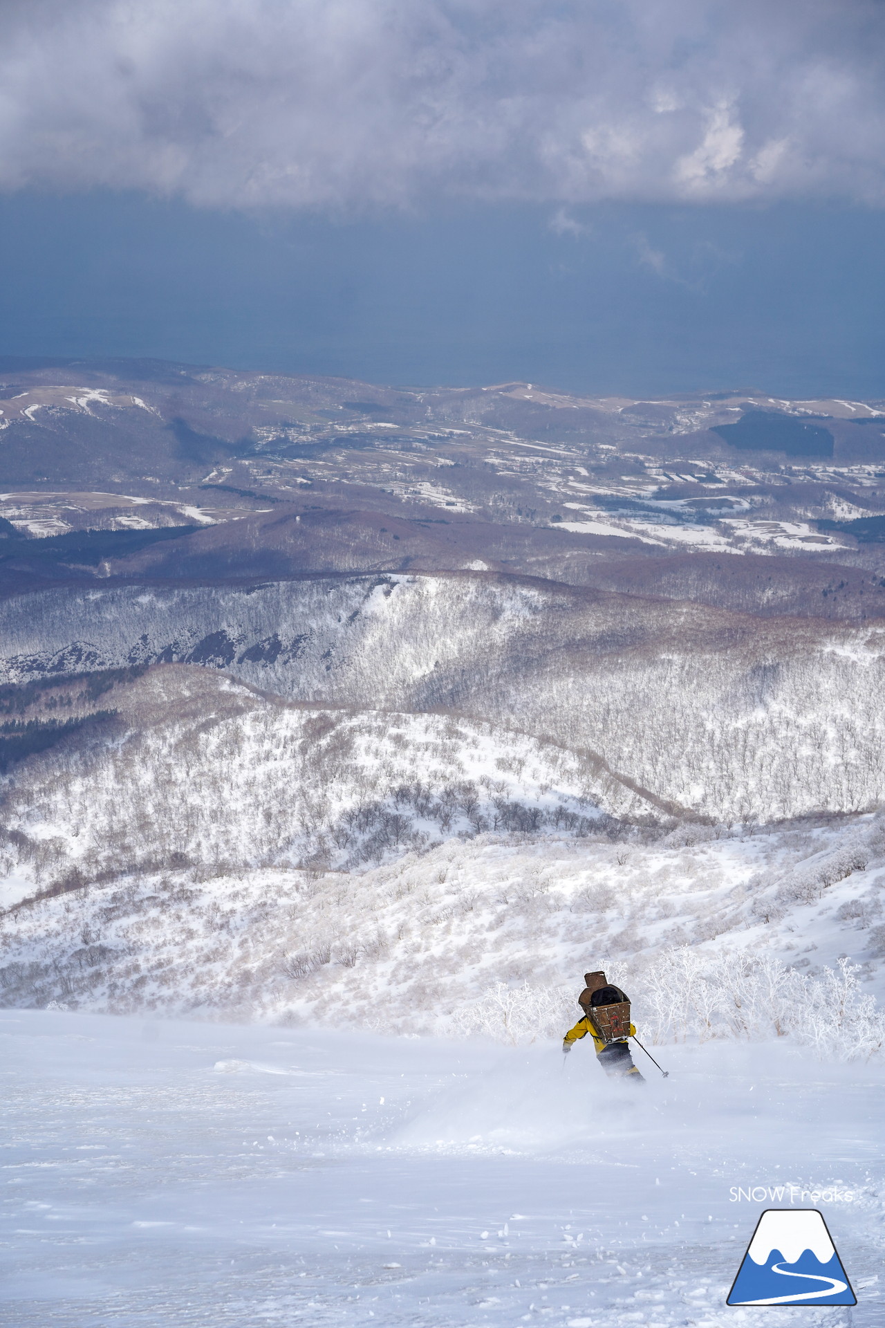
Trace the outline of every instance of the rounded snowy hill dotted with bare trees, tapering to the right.
<instances>
[{"instance_id":1,"label":"rounded snowy hill dotted with bare trees, tapering to the right","mask_svg":"<svg viewBox=\"0 0 885 1328\"><path fill-rule=\"evenodd\" d=\"M80 685L38 699L54 714ZM365 869L454 835L586 835L614 813L657 810L552 742L456 716L283 701L192 665L153 668L96 704L113 710L3 781L0 870L19 882L5 903L186 865Z\"/></svg>"}]
</instances>

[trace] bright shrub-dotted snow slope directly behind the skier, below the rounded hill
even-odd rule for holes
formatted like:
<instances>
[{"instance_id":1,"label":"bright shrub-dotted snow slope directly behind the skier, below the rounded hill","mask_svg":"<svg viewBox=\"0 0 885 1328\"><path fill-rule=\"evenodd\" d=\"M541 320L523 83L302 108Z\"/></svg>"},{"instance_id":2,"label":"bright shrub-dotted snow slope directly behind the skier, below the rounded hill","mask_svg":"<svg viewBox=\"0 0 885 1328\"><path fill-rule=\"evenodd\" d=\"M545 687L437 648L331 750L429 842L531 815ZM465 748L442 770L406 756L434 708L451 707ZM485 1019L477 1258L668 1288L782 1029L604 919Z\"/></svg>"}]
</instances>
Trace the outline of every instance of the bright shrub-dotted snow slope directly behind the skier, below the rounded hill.
<instances>
[{"instance_id":1,"label":"bright shrub-dotted snow slope directly behind the skier, below the rounded hill","mask_svg":"<svg viewBox=\"0 0 885 1328\"><path fill-rule=\"evenodd\" d=\"M494 1032L498 1019L507 1037L500 1013L490 1023L470 1012L499 983L529 983L552 995L524 1036L559 1037L579 1015L585 969L614 964L636 988L641 1037L645 1028L662 1038L764 1037L793 1031L772 1023L782 979L763 1001L768 1023L747 1013L740 1024L713 999L736 981L748 1011L748 977L736 980L722 956L780 960L820 977L851 955L862 965L862 989L881 996L884 886L882 821L870 817L720 838L709 827L679 827L651 842L638 834L612 842L605 833L484 833L349 874L145 872L8 911L0 919L0 999L346 1020L399 1033L468 1032L471 1020ZM687 985L707 1015L670 1024L649 965L683 947L697 948L709 981L695 967L670 985ZM831 1032L837 1007L836 999L833 1013L824 1011ZM815 1009L803 1036L820 1016ZM872 1035L856 1032L860 1053L869 1054ZM820 1049L837 1052L825 1038Z\"/></svg>"}]
</instances>

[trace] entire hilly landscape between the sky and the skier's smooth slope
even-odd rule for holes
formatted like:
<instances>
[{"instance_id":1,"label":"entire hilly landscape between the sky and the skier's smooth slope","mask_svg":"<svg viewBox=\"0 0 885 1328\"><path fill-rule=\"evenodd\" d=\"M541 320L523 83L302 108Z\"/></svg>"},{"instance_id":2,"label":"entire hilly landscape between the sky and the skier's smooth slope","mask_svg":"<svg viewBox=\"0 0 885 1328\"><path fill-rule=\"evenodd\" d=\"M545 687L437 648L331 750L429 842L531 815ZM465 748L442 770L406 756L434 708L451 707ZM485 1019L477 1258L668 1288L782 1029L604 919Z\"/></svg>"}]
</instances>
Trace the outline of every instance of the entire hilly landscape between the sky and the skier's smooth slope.
<instances>
[{"instance_id":1,"label":"entire hilly landscape between the sky and the skier's smooth slope","mask_svg":"<svg viewBox=\"0 0 885 1328\"><path fill-rule=\"evenodd\" d=\"M3 410L5 1004L880 991L882 402L114 361Z\"/></svg>"}]
</instances>

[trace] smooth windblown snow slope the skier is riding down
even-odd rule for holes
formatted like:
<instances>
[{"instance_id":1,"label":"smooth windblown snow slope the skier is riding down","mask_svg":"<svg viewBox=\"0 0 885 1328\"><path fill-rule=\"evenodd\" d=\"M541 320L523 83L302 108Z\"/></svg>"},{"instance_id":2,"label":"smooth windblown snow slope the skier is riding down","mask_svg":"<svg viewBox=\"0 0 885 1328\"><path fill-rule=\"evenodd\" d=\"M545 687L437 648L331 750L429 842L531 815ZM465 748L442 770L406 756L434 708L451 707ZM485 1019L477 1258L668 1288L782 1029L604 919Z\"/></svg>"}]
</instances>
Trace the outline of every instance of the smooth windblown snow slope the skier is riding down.
<instances>
[{"instance_id":1,"label":"smooth windblown snow slope the skier is riding down","mask_svg":"<svg viewBox=\"0 0 885 1328\"><path fill-rule=\"evenodd\" d=\"M885 1320L881 1062L662 1046L670 1078L618 1085L582 1045L563 1066L557 1042L383 1038L348 1017L3 1012L3 1321ZM789 1185L825 1191L853 1311L726 1308L759 1212L789 1198L732 1187Z\"/></svg>"}]
</instances>

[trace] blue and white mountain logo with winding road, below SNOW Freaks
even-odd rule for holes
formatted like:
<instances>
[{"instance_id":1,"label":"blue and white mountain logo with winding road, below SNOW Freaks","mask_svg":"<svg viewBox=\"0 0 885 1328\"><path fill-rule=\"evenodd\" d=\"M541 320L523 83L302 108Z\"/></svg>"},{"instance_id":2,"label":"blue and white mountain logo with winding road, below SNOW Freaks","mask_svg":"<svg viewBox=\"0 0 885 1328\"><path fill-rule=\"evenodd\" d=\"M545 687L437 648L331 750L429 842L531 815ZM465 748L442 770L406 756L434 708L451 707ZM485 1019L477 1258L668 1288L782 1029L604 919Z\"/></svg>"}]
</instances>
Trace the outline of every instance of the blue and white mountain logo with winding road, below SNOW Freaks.
<instances>
[{"instance_id":1,"label":"blue and white mountain logo with winding road, below SNOW Freaks","mask_svg":"<svg viewBox=\"0 0 885 1328\"><path fill-rule=\"evenodd\" d=\"M817 1208L766 1208L727 1305L856 1305Z\"/></svg>"}]
</instances>

